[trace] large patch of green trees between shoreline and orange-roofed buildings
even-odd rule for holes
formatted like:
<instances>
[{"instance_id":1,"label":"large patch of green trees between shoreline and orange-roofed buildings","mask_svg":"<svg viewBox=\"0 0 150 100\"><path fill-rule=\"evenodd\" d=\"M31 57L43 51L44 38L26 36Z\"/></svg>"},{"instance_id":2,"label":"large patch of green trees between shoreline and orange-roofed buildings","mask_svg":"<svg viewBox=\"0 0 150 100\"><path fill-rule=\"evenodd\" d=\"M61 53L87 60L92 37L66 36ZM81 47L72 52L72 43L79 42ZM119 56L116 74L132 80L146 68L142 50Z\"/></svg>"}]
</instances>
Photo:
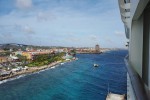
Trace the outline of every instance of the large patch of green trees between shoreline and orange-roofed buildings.
<instances>
[{"instance_id":1,"label":"large patch of green trees between shoreline and orange-roofed buildings","mask_svg":"<svg viewBox=\"0 0 150 100\"><path fill-rule=\"evenodd\" d=\"M43 54L43 55L36 55L33 58L33 61L28 64L29 67L33 66L43 66L48 65L55 61L63 61L62 58L64 56L64 53L59 54Z\"/></svg>"}]
</instances>

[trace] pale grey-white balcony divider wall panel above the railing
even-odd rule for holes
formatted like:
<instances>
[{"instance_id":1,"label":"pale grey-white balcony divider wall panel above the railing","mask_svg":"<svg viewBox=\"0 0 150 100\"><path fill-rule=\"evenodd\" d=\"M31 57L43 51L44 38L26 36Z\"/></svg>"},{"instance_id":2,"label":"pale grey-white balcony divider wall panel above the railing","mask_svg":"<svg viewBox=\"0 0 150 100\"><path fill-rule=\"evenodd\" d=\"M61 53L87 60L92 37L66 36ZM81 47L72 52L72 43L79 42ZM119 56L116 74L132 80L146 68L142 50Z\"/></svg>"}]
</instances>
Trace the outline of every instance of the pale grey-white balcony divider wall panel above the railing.
<instances>
[{"instance_id":1,"label":"pale grey-white balcony divider wall panel above the railing","mask_svg":"<svg viewBox=\"0 0 150 100\"><path fill-rule=\"evenodd\" d=\"M142 77L142 53L143 53L143 17L132 21L129 41L129 61L138 74Z\"/></svg>"}]
</instances>

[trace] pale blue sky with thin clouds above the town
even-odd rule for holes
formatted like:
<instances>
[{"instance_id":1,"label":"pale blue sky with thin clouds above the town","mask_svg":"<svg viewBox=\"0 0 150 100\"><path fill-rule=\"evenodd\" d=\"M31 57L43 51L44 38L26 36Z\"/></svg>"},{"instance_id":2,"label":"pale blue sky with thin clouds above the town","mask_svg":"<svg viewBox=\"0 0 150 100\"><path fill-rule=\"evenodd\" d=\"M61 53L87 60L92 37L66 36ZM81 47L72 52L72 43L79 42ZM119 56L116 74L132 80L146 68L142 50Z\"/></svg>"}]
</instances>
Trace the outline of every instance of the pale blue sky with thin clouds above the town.
<instances>
[{"instance_id":1,"label":"pale blue sky with thin clouds above the town","mask_svg":"<svg viewBox=\"0 0 150 100\"><path fill-rule=\"evenodd\" d=\"M0 44L124 48L118 0L0 0Z\"/></svg>"}]
</instances>

